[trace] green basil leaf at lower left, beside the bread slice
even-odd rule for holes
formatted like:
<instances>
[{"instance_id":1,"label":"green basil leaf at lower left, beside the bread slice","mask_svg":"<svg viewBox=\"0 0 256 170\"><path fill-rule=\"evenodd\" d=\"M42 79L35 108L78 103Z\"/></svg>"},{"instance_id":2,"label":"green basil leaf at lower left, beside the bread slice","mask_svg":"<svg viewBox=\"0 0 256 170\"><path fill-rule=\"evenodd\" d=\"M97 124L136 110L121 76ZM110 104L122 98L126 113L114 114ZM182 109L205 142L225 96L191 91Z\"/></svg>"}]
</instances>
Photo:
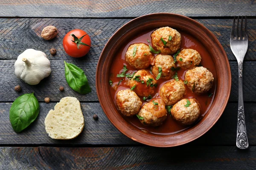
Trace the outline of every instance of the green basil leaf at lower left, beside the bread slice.
<instances>
[{"instance_id":1,"label":"green basil leaf at lower left, beside the bread slice","mask_svg":"<svg viewBox=\"0 0 256 170\"><path fill-rule=\"evenodd\" d=\"M19 96L10 109L10 121L16 133L28 127L37 118L39 103L34 93Z\"/></svg>"}]
</instances>

